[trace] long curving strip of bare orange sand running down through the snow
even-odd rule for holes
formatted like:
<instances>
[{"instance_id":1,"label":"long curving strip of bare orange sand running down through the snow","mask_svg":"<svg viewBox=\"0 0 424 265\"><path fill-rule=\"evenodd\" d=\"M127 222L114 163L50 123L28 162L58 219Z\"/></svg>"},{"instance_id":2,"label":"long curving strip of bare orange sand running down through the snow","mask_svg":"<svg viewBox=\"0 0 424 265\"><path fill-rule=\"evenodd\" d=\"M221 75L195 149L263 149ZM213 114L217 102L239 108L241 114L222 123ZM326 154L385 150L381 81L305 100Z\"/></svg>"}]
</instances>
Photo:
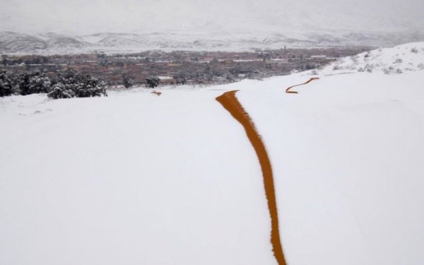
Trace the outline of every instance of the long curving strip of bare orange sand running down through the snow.
<instances>
[{"instance_id":1,"label":"long curving strip of bare orange sand running down through the snow","mask_svg":"<svg viewBox=\"0 0 424 265\"><path fill-rule=\"evenodd\" d=\"M216 100L230 112L237 122L240 122L245 128L247 138L257 153L259 163L261 164L262 175L264 177L264 188L266 194L266 201L268 202L269 214L271 216L271 244L274 257L278 262L278 265L286 265L285 257L283 254L283 247L281 246L280 232L278 228L278 210L276 203L276 191L273 184L273 172L271 167L271 161L269 160L268 153L266 151L264 142L261 136L258 134L254 122L249 117L249 114L245 111L235 93L238 90L232 90L223 93Z\"/></svg>"}]
</instances>

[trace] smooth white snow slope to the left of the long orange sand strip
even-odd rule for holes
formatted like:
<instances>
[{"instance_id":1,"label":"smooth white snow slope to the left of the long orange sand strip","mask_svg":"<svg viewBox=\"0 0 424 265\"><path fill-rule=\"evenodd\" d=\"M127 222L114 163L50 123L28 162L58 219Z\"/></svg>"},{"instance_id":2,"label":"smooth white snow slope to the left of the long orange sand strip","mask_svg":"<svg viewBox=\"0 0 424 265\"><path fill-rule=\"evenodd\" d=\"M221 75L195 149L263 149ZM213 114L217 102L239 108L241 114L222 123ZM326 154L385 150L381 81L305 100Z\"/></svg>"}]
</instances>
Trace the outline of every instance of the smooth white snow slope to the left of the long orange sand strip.
<instances>
[{"instance_id":1,"label":"smooth white snow slope to the left of the long orange sand strip","mask_svg":"<svg viewBox=\"0 0 424 265\"><path fill-rule=\"evenodd\" d=\"M1 98L0 264L275 264L219 94Z\"/></svg>"}]
</instances>

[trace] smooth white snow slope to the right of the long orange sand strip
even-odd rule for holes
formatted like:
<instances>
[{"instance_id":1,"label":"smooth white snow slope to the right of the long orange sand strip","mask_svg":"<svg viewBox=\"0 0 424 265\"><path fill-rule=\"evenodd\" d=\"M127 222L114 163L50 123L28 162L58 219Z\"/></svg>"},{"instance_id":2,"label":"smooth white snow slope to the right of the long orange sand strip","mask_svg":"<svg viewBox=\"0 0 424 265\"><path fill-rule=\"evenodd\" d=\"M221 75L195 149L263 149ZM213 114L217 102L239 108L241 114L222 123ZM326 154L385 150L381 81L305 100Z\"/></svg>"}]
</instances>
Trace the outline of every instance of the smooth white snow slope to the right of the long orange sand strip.
<instances>
[{"instance_id":1,"label":"smooth white snow slope to the right of the long orange sand strip","mask_svg":"<svg viewBox=\"0 0 424 265\"><path fill-rule=\"evenodd\" d=\"M421 264L423 72L275 78L239 99L267 143L289 264Z\"/></svg>"}]
</instances>

